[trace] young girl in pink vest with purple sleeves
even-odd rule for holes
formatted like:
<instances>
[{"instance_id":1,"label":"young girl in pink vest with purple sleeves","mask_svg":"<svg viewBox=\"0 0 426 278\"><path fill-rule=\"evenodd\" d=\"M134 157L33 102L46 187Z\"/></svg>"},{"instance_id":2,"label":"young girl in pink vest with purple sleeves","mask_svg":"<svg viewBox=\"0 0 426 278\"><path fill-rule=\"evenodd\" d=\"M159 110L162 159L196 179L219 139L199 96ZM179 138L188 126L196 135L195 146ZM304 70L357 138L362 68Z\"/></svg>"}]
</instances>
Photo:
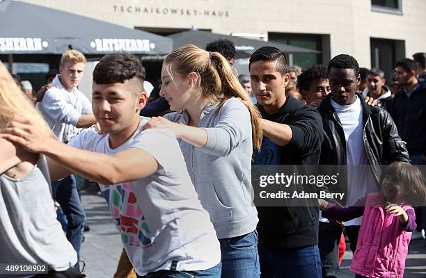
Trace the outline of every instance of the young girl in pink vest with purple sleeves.
<instances>
[{"instance_id":1,"label":"young girl in pink vest with purple sleeves","mask_svg":"<svg viewBox=\"0 0 426 278\"><path fill-rule=\"evenodd\" d=\"M322 215L347 221L363 215L351 271L355 277L402 278L411 232L416 229L412 206L424 206L423 175L409 163L395 162L381 175L381 191L342 207L319 199Z\"/></svg>"}]
</instances>

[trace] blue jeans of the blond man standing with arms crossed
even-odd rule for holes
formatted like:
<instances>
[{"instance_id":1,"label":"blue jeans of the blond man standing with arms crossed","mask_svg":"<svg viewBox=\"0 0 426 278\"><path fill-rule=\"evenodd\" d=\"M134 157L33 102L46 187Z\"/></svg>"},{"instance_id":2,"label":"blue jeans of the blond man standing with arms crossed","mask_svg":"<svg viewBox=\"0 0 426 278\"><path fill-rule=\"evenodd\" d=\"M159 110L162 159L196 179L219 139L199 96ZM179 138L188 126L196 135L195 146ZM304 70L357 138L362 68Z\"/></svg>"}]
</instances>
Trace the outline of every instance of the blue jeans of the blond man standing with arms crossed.
<instances>
[{"instance_id":1,"label":"blue jeans of the blond man standing with arms crossed","mask_svg":"<svg viewBox=\"0 0 426 278\"><path fill-rule=\"evenodd\" d=\"M67 217L67 238L77 252L77 259L80 261L80 247L86 214L77 192L77 182L70 175L60 181L54 181L52 191L54 199L61 205L62 211Z\"/></svg>"}]
</instances>

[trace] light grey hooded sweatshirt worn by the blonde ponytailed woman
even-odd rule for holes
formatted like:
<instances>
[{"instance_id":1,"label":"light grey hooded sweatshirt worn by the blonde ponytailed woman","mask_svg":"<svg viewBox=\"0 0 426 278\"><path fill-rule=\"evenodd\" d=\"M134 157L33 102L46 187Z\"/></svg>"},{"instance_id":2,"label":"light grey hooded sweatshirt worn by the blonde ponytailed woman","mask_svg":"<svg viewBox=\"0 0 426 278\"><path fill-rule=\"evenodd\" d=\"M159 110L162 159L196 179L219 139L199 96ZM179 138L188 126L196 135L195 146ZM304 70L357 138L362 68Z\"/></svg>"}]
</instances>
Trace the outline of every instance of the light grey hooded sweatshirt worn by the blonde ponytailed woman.
<instances>
[{"instance_id":1,"label":"light grey hooded sweatshirt worn by the blonde ponytailed woman","mask_svg":"<svg viewBox=\"0 0 426 278\"><path fill-rule=\"evenodd\" d=\"M164 117L185 125L189 120L186 111ZM258 211L251 186L253 142L248 109L235 98L228 99L219 111L217 105L207 104L198 127L207 131L204 147L194 147L184 140L179 144L217 237L232 238L254 231Z\"/></svg>"}]
</instances>

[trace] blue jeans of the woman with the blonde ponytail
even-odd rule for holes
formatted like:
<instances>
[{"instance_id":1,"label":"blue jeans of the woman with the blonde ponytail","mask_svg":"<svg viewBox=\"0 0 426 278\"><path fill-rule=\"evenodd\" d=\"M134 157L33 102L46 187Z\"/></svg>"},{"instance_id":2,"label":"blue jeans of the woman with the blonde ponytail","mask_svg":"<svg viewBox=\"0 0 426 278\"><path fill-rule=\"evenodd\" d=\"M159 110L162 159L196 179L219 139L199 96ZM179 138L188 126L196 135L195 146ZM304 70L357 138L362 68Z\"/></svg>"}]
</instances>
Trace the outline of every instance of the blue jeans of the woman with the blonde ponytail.
<instances>
[{"instance_id":1,"label":"blue jeans of the woman with the blonde ponytail","mask_svg":"<svg viewBox=\"0 0 426 278\"><path fill-rule=\"evenodd\" d=\"M219 239L222 254L222 278L258 278L260 263L258 232Z\"/></svg>"}]
</instances>

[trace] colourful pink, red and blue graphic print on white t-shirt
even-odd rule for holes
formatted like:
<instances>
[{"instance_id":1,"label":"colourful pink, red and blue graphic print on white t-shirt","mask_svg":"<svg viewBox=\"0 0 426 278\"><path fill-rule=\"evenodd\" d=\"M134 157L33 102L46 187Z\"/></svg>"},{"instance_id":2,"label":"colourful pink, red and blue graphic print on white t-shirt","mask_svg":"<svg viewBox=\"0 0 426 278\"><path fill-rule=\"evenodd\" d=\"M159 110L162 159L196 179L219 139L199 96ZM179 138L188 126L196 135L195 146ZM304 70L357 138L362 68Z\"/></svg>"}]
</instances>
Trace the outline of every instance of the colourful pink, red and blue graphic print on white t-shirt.
<instances>
[{"instance_id":1,"label":"colourful pink, red and blue graphic print on white t-shirt","mask_svg":"<svg viewBox=\"0 0 426 278\"><path fill-rule=\"evenodd\" d=\"M114 224L120 231L123 245L151 246L151 231L143 216L131 183L104 186L102 195L107 200ZM148 245L148 246L147 246Z\"/></svg>"}]
</instances>

